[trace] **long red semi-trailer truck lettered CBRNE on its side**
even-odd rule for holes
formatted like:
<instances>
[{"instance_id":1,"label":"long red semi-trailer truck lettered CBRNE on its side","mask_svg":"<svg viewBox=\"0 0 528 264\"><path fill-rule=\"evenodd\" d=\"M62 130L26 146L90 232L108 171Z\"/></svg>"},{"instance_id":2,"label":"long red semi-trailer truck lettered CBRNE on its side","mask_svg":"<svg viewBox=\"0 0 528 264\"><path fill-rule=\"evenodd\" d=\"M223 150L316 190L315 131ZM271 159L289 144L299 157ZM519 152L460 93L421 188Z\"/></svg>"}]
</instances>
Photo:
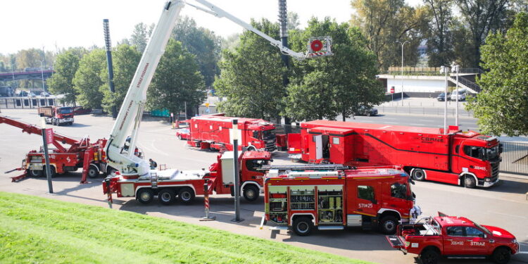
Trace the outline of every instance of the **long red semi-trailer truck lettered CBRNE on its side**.
<instances>
[{"instance_id":1,"label":"long red semi-trailer truck lettered CBRNE on its side","mask_svg":"<svg viewBox=\"0 0 528 264\"><path fill-rule=\"evenodd\" d=\"M289 153L310 163L401 165L415 180L465 187L498 182L502 145L496 137L443 129L315 120L289 134Z\"/></svg>"}]
</instances>

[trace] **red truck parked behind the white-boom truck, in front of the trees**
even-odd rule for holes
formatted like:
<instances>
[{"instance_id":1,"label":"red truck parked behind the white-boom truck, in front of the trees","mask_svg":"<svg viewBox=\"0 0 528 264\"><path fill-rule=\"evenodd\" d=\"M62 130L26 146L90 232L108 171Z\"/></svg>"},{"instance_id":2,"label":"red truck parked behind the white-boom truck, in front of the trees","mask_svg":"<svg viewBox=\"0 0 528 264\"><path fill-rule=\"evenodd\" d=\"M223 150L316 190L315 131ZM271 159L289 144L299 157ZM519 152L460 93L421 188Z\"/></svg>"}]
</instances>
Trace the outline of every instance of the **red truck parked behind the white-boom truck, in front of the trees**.
<instances>
[{"instance_id":1,"label":"red truck parked behind the white-boom truck, in front of the trees","mask_svg":"<svg viewBox=\"0 0 528 264\"><path fill-rule=\"evenodd\" d=\"M232 120L238 120L238 127L232 125ZM232 133L236 133L240 147L247 147L249 151L277 150L275 125L262 119L231 118L223 113L200 115L191 118L189 129L191 137L187 144L200 149L218 149L232 151Z\"/></svg>"}]
</instances>

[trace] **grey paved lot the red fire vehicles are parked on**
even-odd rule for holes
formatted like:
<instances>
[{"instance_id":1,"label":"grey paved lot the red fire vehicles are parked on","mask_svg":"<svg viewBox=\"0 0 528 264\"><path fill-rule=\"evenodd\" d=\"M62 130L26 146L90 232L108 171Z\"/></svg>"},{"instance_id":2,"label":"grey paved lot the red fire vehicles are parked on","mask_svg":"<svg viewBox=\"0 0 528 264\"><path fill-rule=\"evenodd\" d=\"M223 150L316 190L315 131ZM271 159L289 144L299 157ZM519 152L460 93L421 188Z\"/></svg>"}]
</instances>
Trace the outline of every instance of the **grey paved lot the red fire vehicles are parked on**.
<instances>
[{"instance_id":1,"label":"grey paved lot the red fire vehicles are parked on","mask_svg":"<svg viewBox=\"0 0 528 264\"><path fill-rule=\"evenodd\" d=\"M10 115L25 122L39 123L39 118L33 111L2 110L3 115ZM380 122L388 120L391 115L370 118ZM58 132L70 136L82 137L89 134L92 139L107 137L113 121L108 117L80 115L75 118L72 127L54 127ZM22 134L19 129L0 124L0 172L15 168L25 153L38 149L41 138L35 135ZM168 164L172 168L196 169L208 168L215 161L218 153L187 149L184 142L174 137L174 130L158 120L146 120L142 123L139 146L147 158L154 158L158 164ZM289 163L284 153L275 157L275 164ZM62 201L74 201L106 207L105 196L102 194L101 179L92 180L89 184L79 184L80 172L62 175L54 178L55 194L47 194L44 178L28 178L18 183L11 183L6 175L0 173L0 191L12 191L22 194L32 194ZM464 215L486 225L503 227L517 236L522 243L522 250L528 251L528 201L525 193L528 191L528 180L503 178L500 186L491 189L463 189L448 184L432 182L417 182L413 186L417 195L417 203L422 206L424 215L434 215L440 210L452 215ZM196 198L191 206L161 206L158 203L143 205L134 199L115 199L116 210L130 210L173 220L191 222L197 225L227 230L238 234L249 234L255 237L283 241L284 243L301 246L318 251L336 253L351 258L370 260L377 263L415 263L412 255L403 256L399 251L392 250L384 236L372 231L348 230L346 232L315 232L310 237L296 237L282 232L272 232L265 228L259 230L260 217L263 215L263 199L256 203L241 202L241 217L244 222L234 224L233 200L229 196L213 196L210 201L213 215L217 221L200 222L203 216L203 199ZM444 260L441 263L483 263L482 260ZM528 263L528 254L513 256L511 263Z\"/></svg>"}]
</instances>

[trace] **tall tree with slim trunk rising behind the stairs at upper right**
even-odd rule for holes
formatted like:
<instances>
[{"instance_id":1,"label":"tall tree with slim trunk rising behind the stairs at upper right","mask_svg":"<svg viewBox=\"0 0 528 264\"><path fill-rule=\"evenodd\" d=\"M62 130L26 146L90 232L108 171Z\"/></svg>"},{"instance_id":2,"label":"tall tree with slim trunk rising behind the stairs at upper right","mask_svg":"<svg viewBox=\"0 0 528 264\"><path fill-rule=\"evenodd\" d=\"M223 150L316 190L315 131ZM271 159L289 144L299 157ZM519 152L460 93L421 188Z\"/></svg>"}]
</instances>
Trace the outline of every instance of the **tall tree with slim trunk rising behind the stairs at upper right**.
<instances>
[{"instance_id":1,"label":"tall tree with slim trunk rising behind the stairs at upper right","mask_svg":"<svg viewBox=\"0 0 528 264\"><path fill-rule=\"evenodd\" d=\"M510 0L460 0L455 3L471 32L473 54L470 67L476 68L480 63L480 46L486 36L490 32L504 30L508 25Z\"/></svg>"}]
</instances>

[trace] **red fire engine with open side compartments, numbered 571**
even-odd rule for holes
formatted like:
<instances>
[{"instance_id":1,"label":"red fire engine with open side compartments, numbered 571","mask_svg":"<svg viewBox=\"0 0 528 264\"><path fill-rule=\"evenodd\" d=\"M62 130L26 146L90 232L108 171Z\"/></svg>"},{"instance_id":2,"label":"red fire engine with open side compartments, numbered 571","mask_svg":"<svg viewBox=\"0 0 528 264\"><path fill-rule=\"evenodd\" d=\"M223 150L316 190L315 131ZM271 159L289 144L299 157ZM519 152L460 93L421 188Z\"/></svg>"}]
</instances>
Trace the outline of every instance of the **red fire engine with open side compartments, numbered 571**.
<instances>
[{"instance_id":1,"label":"red fire engine with open side compartments, numbered 571","mask_svg":"<svg viewBox=\"0 0 528 264\"><path fill-rule=\"evenodd\" d=\"M265 221L271 229L306 236L319 230L379 226L394 234L398 222L420 215L410 178L398 167L353 170L270 170L265 178ZM264 221L263 221L264 223Z\"/></svg>"}]
</instances>

